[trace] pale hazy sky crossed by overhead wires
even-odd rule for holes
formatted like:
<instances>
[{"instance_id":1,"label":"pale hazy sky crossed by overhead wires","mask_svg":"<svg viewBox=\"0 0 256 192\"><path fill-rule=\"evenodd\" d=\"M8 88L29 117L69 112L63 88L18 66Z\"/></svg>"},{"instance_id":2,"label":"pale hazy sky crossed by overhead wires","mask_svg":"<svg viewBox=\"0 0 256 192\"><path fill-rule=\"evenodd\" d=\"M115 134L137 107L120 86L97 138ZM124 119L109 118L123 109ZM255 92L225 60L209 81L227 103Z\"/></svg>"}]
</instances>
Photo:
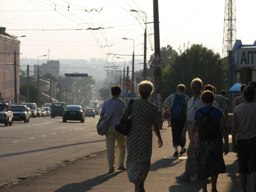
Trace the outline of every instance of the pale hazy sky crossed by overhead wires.
<instances>
[{"instance_id":1,"label":"pale hazy sky crossed by overhead wires","mask_svg":"<svg viewBox=\"0 0 256 192\"><path fill-rule=\"evenodd\" d=\"M160 47L202 44L222 55L225 0L159 0ZM237 39L256 40L255 0L236 1ZM145 17L153 22L153 0L1 0L0 26L22 41L20 57L50 59L103 58L106 62L131 60L143 55ZM143 21L143 19L144 21ZM104 28L90 30L89 28ZM154 25L147 24L148 34ZM153 51L151 49L153 48ZM154 35L147 38L147 59L154 53ZM143 56L136 56L143 59Z\"/></svg>"}]
</instances>

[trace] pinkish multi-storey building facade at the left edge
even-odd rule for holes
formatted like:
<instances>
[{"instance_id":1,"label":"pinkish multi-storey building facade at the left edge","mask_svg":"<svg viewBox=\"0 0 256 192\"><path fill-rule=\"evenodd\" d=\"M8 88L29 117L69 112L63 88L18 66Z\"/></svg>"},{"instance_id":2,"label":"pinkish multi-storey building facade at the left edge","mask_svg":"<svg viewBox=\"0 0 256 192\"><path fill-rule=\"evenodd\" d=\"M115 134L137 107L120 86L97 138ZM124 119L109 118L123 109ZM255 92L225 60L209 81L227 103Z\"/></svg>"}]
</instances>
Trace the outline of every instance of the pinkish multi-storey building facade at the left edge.
<instances>
[{"instance_id":1,"label":"pinkish multi-storey building facade at the left edge","mask_svg":"<svg viewBox=\"0 0 256 192\"><path fill-rule=\"evenodd\" d=\"M10 104L19 102L19 48L17 37L6 33L5 27L0 27L0 101Z\"/></svg>"}]
</instances>

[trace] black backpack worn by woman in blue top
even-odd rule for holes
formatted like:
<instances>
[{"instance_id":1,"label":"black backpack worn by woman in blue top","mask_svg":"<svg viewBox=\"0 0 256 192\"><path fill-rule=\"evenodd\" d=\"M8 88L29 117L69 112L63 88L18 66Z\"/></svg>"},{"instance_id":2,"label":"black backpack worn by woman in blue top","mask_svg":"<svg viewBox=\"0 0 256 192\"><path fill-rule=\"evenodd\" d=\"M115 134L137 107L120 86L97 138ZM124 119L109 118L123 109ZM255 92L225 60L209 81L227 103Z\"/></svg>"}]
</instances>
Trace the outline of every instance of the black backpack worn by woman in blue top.
<instances>
[{"instance_id":1,"label":"black backpack worn by woman in blue top","mask_svg":"<svg viewBox=\"0 0 256 192\"><path fill-rule=\"evenodd\" d=\"M199 137L203 140L216 139L219 135L219 127L216 127L210 118L210 113L215 108L215 106L212 106L207 113L204 113L201 109L198 109L198 111L203 115L198 126Z\"/></svg>"}]
</instances>

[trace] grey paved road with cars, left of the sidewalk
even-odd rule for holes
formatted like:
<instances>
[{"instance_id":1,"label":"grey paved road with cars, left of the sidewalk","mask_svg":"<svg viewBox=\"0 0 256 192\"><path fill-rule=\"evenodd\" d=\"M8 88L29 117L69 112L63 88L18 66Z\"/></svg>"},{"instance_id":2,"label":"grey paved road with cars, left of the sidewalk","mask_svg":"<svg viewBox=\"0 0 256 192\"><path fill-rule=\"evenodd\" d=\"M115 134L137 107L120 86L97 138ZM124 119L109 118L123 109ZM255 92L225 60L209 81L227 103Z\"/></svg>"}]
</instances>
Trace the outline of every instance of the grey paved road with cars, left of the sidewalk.
<instances>
[{"instance_id":1,"label":"grey paved road with cars, left of the sidewalk","mask_svg":"<svg viewBox=\"0 0 256 192\"><path fill-rule=\"evenodd\" d=\"M8 127L0 124L0 183L102 150L105 139L97 134L98 119L62 123L61 117L37 117Z\"/></svg>"}]
</instances>

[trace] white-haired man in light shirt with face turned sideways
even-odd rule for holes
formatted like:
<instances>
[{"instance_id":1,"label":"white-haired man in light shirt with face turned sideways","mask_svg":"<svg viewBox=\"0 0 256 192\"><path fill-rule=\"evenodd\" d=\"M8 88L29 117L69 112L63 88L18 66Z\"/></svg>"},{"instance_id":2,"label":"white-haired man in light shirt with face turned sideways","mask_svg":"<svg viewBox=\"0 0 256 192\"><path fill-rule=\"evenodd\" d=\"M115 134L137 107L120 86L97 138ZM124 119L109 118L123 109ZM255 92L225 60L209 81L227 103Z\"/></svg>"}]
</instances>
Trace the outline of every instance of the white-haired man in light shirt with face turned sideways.
<instances>
[{"instance_id":1,"label":"white-haired man in light shirt with face turned sideways","mask_svg":"<svg viewBox=\"0 0 256 192\"><path fill-rule=\"evenodd\" d=\"M187 108L187 119L181 135L181 140L186 141L186 132L188 132L189 145L187 147L187 159L185 163L185 171L180 176L175 177L179 181L189 181L190 177L195 176L195 163L194 163L194 152L192 151L191 143L191 126L194 118L195 111L199 109L203 102L201 100L201 90L203 89L203 82L200 78L195 78L191 82L191 90L193 97L188 101Z\"/></svg>"}]
</instances>

